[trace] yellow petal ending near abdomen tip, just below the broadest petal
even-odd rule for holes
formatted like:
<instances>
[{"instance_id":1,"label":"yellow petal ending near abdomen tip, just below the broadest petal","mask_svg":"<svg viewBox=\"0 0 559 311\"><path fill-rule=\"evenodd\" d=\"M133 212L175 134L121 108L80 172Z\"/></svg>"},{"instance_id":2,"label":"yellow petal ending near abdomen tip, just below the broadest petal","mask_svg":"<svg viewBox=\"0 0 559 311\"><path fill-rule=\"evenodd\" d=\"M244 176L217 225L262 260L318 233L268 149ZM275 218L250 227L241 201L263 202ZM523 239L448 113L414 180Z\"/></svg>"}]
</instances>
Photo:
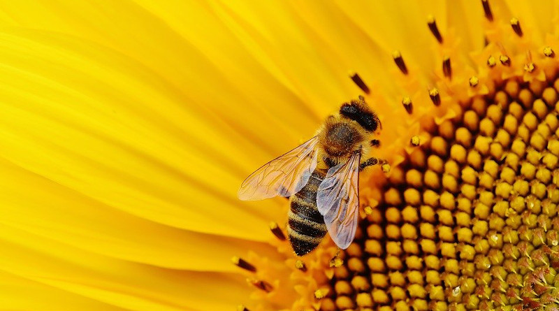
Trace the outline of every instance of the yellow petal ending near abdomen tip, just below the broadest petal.
<instances>
[{"instance_id":1,"label":"yellow petal ending near abdomen tip, just below the broadest petal","mask_svg":"<svg viewBox=\"0 0 559 311\"><path fill-rule=\"evenodd\" d=\"M1 159L0 175L10 177L0 178L1 224L96 254L164 268L233 271L238 268L229 262L231 256L267 249L265 243L180 230L130 215ZM273 255L272 249L268 254Z\"/></svg>"}]
</instances>

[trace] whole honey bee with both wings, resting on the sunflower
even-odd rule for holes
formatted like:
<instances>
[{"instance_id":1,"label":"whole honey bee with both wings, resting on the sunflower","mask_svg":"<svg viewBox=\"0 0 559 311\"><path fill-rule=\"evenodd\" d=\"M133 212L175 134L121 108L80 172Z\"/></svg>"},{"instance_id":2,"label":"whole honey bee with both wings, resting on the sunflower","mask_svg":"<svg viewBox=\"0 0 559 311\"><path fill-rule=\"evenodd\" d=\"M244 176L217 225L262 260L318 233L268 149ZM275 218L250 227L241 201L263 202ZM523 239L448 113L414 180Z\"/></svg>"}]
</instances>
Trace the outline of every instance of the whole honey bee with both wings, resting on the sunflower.
<instances>
[{"instance_id":1,"label":"whole honey bee with both wings, resting on the sunflower","mask_svg":"<svg viewBox=\"0 0 559 311\"><path fill-rule=\"evenodd\" d=\"M361 161L370 147L379 145L374 137L380 127L363 97L344 103L310 140L249 175L238 197L243 201L289 197L287 233L298 256L315 249L326 232L346 249L358 225L359 171L384 163L375 157Z\"/></svg>"}]
</instances>

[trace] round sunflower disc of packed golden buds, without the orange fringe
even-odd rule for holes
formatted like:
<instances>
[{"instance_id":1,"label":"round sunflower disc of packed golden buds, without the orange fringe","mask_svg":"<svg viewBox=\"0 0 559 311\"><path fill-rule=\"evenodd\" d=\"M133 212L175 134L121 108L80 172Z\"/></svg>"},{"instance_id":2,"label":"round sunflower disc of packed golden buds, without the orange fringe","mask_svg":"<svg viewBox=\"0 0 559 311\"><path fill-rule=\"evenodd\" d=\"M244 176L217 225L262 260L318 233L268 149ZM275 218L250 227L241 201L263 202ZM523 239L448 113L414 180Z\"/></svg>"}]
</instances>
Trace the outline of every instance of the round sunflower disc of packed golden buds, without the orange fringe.
<instances>
[{"instance_id":1,"label":"round sunflower disc of packed golden buds, without the orange fringe","mask_svg":"<svg viewBox=\"0 0 559 311\"><path fill-rule=\"evenodd\" d=\"M321 310L556 306L558 87L508 80L393 168Z\"/></svg>"}]
</instances>

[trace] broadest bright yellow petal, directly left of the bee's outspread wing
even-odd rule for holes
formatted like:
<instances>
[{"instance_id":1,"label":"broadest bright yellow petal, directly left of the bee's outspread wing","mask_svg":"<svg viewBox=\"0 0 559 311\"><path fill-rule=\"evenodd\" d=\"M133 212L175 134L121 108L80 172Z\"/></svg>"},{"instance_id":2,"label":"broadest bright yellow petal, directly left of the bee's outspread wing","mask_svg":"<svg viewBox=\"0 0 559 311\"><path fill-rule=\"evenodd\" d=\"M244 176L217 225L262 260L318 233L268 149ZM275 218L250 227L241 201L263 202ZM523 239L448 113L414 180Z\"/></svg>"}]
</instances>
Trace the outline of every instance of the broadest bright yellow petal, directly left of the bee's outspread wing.
<instances>
[{"instance_id":1,"label":"broadest bright yellow petal, directly left of the bee's outspread wing","mask_svg":"<svg viewBox=\"0 0 559 311\"><path fill-rule=\"evenodd\" d=\"M227 141L227 126L182 108L160 78L99 46L30 33L2 34L0 46L6 159L155 222L265 240L269 218L236 208L231 162L242 157L226 146L242 143ZM203 143L211 140L224 145Z\"/></svg>"}]
</instances>

